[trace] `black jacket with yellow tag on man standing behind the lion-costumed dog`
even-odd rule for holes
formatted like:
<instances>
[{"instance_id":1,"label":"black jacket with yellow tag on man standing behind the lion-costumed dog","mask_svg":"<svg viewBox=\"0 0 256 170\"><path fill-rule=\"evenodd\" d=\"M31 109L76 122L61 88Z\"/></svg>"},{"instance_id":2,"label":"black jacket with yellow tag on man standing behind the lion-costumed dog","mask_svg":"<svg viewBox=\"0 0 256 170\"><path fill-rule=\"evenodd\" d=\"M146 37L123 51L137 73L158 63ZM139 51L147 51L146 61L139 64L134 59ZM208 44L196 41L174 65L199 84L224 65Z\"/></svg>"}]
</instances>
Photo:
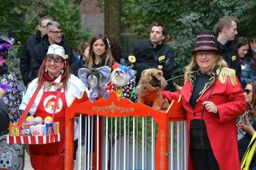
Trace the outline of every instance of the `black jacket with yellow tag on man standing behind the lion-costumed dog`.
<instances>
[{"instance_id":1,"label":"black jacket with yellow tag on man standing behind the lion-costumed dog","mask_svg":"<svg viewBox=\"0 0 256 170\"><path fill-rule=\"evenodd\" d=\"M164 43L156 45L156 48L153 48L153 60L157 65L163 65L163 77L166 80L171 79L172 68L175 63L174 49ZM171 81L168 82L166 90L175 91Z\"/></svg>"}]
</instances>

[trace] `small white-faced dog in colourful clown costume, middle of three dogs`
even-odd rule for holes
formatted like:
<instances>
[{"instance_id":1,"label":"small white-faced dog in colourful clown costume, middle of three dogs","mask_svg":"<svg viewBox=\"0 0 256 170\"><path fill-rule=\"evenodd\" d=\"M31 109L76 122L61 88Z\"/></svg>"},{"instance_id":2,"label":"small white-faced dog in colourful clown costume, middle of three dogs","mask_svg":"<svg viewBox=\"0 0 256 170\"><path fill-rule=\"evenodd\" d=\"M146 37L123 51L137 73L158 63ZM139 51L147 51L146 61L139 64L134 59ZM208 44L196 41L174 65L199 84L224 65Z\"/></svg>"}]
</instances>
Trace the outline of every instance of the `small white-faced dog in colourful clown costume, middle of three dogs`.
<instances>
[{"instance_id":1,"label":"small white-faced dog in colourful clown costume, middle of three dogs","mask_svg":"<svg viewBox=\"0 0 256 170\"><path fill-rule=\"evenodd\" d=\"M119 98L128 98L132 102L137 102L135 94L135 76L129 66L119 65L112 71L110 76L111 91L115 91Z\"/></svg>"}]
</instances>

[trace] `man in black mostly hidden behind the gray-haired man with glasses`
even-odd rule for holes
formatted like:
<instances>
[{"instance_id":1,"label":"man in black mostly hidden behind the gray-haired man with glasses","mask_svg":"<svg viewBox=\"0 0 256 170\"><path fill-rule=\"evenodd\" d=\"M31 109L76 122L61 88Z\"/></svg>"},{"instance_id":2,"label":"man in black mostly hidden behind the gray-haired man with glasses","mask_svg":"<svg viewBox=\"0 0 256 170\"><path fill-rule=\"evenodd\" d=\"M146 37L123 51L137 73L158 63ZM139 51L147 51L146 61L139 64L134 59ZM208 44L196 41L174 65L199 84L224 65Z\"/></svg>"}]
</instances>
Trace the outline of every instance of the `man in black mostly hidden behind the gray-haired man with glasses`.
<instances>
[{"instance_id":1,"label":"man in black mostly hidden behind the gray-haired man with glasses","mask_svg":"<svg viewBox=\"0 0 256 170\"><path fill-rule=\"evenodd\" d=\"M46 24L49 23L49 21L52 20L52 17L49 15L46 15L44 17L41 17L38 26L36 34L30 36L29 39L27 39L27 42L24 44L22 48L22 54L20 59L20 70L21 70L21 76L24 82L24 85L27 86L33 79L30 78L31 75L31 52L33 51L33 48L38 45L42 39L43 36L46 35Z\"/></svg>"}]
</instances>

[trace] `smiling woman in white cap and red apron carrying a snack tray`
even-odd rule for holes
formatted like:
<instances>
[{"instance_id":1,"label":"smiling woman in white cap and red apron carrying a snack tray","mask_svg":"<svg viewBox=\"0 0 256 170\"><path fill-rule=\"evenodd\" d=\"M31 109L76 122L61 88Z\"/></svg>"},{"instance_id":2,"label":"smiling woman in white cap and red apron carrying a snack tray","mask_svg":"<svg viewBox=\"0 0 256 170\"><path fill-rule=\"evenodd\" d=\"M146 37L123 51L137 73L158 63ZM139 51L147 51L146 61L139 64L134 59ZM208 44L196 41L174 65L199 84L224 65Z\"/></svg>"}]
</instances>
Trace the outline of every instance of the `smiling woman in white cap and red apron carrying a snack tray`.
<instances>
[{"instance_id":1,"label":"smiling woman in white cap and red apron carrying a snack tray","mask_svg":"<svg viewBox=\"0 0 256 170\"><path fill-rule=\"evenodd\" d=\"M83 82L70 73L64 48L50 45L46 58L40 66L39 76L28 86L20 110L25 110L33 94L37 93L30 108L30 115L44 119L55 114L54 122L59 122L61 140L53 144L30 145L30 162L34 169L64 169L65 108L71 106L75 98L81 101L87 100L87 91ZM58 101L55 101L56 98ZM56 103L58 103L57 107L55 107Z\"/></svg>"}]
</instances>

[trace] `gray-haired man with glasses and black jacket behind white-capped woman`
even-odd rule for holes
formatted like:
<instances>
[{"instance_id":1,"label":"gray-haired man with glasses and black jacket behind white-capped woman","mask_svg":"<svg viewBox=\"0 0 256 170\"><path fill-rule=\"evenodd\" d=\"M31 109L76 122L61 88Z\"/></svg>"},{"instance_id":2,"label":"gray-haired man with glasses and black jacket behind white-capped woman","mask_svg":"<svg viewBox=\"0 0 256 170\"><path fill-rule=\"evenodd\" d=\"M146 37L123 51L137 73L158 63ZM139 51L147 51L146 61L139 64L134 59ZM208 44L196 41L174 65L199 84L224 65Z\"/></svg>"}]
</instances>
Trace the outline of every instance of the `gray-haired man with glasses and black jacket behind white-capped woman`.
<instances>
[{"instance_id":1,"label":"gray-haired man with glasses and black jacket behind white-capped woman","mask_svg":"<svg viewBox=\"0 0 256 170\"><path fill-rule=\"evenodd\" d=\"M74 63L74 53L71 45L65 42L63 39L62 26L55 20L50 21L46 25L46 35L43 36L42 42L36 45L32 52L32 74L31 78L35 79L37 77L38 70L40 69L43 60L45 59L47 50L50 45L56 44L60 45L65 49L65 60L68 61L69 66Z\"/></svg>"}]
</instances>

